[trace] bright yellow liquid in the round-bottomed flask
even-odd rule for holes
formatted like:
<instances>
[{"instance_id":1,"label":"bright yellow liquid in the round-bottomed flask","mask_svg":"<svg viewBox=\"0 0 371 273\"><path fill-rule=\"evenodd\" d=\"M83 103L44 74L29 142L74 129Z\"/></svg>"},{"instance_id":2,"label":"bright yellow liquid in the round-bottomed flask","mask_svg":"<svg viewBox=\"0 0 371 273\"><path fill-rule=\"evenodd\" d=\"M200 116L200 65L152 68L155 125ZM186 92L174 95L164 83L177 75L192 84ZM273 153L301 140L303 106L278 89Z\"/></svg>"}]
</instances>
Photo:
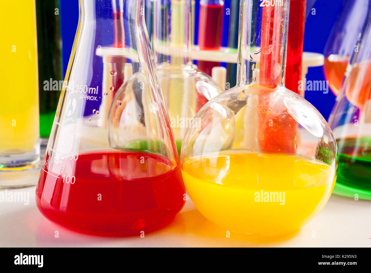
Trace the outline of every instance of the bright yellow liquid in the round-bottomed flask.
<instances>
[{"instance_id":1,"label":"bright yellow liquid in the round-bottomed flask","mask_svg":"<svg viewBox=\"0 0 371 273\"><path fill-rule=\"evenodd\" d=\"M335 168L298 156L224 152L182 166L196 208L229 231L278 235L305 225L326 204Z\"/></svg>"}]
</instances>

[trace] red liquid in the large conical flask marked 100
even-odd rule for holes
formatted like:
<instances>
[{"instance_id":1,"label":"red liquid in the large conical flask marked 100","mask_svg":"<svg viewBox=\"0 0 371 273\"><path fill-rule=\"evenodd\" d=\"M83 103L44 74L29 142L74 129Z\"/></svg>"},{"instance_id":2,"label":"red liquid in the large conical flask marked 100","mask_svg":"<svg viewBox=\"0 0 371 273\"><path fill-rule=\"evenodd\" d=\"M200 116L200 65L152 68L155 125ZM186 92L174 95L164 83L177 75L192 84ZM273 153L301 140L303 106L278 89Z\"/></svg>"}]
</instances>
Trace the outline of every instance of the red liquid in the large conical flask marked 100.
<instances>
[{"instance_id":1,"label":"red liquid in the large conical flask marked 100","mask_svg":"<svg viewBox=\"0 0 371 273\"><path fill-rule=\"evenodd\" d=\"M36 188L37 207L71 230L137 235L165 226L185 204L179 165L174 168L160 155L96 152L54 162L49 169L45 165Z\"/></svg>"}]
</instances>

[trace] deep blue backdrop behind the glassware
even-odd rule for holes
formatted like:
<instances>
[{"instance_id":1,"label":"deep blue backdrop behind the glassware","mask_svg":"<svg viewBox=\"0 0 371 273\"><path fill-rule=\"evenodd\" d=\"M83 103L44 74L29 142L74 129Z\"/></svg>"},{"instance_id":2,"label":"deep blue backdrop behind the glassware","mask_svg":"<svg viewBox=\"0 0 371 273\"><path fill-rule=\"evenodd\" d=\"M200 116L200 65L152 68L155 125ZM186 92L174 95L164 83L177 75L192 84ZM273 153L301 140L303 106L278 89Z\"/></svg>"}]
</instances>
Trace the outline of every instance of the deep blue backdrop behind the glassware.
<instances>
[{"instance_id":1,"label":"deep blue backdrop behind the glassware","mask_svg":"<svg viewBox=\"0 0 371 273\"><path fill-rule=\"evenodd\" d=\"M198 21L198 2L196 0L196 26ZM230 6L230 0L224 1L226 8ZM336 16L340 11L340 0L317 0L313 8L316 14L309 14L305 23L304 51L323 53L323 49ZM79 17L78 0L60 0L60 17L63 41L63 70L66 72L73 40ZM227 45L229 16L224 17L223 46ZM197 43L197 27L195 30L195 42ZM322 67L309 68L307 80L324 80ZM312 103L326 118L335 103L335 95L329 91L306 91L305 98Z\"/></svg>"}]
</instances>

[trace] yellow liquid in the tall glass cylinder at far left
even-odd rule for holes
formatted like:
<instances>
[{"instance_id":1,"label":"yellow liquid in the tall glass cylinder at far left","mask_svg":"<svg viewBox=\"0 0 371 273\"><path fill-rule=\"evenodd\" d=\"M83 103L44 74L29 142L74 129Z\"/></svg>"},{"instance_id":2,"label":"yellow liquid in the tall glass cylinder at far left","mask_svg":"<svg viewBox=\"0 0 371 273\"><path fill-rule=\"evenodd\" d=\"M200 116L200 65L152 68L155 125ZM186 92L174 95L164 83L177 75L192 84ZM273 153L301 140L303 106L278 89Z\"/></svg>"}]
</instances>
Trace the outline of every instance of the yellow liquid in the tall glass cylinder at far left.
<instances>
[{"instance_id":1,"label":"yellow liquid in the tall glass cylinder at far left","mask_svg":"<svg viewBox=\"0 0 371 273\"><path fill-rule=\"evenodd\" d=\"M1 1L0 24L0 153L26 153L39 139L34 1Z\"/></svg>"}]
</instances>

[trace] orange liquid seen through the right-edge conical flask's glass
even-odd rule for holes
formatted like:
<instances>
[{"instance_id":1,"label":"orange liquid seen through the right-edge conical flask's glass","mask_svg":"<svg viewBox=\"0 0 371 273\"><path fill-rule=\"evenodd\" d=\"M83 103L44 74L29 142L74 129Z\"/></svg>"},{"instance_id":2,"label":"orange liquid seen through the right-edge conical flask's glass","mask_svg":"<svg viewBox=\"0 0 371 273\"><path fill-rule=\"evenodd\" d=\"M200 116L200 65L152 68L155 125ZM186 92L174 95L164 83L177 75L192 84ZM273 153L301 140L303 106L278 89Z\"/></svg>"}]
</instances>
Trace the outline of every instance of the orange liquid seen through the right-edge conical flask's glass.
<instances>
[{"instance_id":1,"label":"orange liquid seen through the right-edge conical flask's glass","mask_svg":"<svg viewBox=\"0 0 371 273\"><path fill-rule=\"evenodd\" d=\"M345 95L359 109L363 109L365 102L371 99L371 60L354 65Z\"/></svg>"}]
</instances>

